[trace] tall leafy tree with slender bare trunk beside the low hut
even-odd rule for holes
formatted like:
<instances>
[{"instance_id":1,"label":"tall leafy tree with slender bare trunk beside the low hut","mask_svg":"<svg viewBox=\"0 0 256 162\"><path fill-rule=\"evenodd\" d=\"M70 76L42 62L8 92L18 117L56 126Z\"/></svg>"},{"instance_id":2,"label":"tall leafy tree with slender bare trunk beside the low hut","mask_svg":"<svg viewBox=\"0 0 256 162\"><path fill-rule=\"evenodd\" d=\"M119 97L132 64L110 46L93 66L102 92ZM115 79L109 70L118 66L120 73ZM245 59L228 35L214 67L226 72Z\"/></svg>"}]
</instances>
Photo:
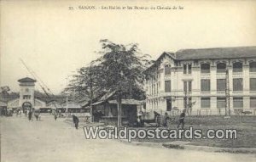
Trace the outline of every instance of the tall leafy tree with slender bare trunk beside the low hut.
<instances>
[{"instance_id":1,"label":"tall leafy tree with slender bare trunk beside the low hut","mask_svg":"<svg viewBox=\"0 0 256 162\"><path fill-rule=\"evenodd\" d=\"M140 53L137 44L116 44L101 40L102 57L100 86L107 91L115 91L118 102L118 126L122 126L122 98L125 94L143 92L143 70L148 64L148 55Z\"/></svg>"}]
</instances>

